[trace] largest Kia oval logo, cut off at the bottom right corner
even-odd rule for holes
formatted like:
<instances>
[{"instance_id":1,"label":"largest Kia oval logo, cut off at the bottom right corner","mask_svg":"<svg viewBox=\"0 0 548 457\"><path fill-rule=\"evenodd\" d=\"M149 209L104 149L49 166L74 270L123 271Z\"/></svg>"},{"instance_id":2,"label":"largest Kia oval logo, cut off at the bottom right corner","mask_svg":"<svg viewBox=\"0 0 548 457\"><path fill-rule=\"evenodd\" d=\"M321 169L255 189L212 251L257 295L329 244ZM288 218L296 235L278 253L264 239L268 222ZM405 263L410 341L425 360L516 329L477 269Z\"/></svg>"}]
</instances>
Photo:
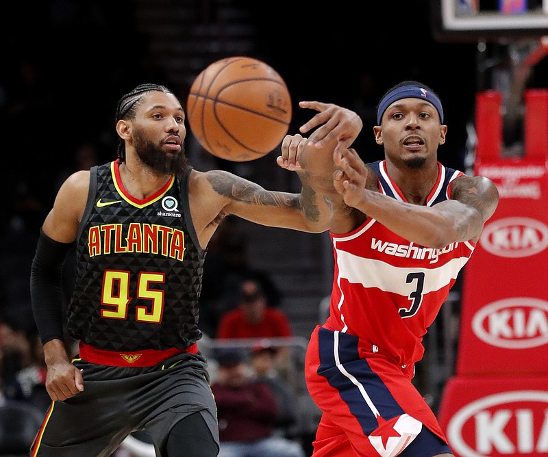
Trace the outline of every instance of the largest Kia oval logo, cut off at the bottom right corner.
<instances>
[{"instance_id":1,"label":"largest Kia oval logo, cut off at the bottom right corner","mask_svg":"<svg viewBox=\"0 0 548 457\"><path fill-rule=\"evenodd\" d=\"M547 391L511 391L480 398L451 417L449 445L460 457L546 455L547 408Z\"/></svg>"}]
</instances>

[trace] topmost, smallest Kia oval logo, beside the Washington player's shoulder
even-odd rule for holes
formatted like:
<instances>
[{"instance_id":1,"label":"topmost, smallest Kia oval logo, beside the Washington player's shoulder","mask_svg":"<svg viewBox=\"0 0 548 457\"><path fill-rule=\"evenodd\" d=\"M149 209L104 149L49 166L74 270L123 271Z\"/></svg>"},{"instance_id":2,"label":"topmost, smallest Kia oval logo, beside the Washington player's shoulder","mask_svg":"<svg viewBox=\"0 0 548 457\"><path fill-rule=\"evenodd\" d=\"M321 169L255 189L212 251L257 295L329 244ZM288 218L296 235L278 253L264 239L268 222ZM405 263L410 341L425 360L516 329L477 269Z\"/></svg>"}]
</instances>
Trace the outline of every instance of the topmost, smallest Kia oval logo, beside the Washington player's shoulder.
<instances>
[{"instance_id":1,"label":"topmost, smallest Kia oval logo, beside the Washington player's shoulder","mask_svg":"<svg viewBox=\"0 0 548 457\"><path fill-rule=\"evenodd\" d=\"M529 257L548 246L548 227L531 218L499 219L484 226L479 243L499 257Z\"/></svg>"}]
</instances>

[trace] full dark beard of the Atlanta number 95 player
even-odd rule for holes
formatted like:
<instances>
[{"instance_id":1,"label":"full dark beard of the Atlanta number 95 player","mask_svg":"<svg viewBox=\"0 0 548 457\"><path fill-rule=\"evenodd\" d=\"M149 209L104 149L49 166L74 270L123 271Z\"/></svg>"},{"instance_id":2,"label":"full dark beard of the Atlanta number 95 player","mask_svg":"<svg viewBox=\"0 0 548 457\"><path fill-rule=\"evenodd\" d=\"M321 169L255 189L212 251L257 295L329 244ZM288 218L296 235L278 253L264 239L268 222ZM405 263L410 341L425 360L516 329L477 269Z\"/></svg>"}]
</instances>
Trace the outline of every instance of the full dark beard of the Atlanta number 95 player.
<instances>
[{"instance_id":1,"label":"full dark beard of the Atlanta number 95 player","mask_svg":"<svg viewBox=\"0 0 548 457\"><path fill-rule=\"evenodd\" d=\"M188 158L186 157L184 144L181 144L181 152L166 153L162 151L162 144L154 144L147 140L140 132L134 134L134 148L143 164L160 174L175 174L176 177L184 177Z\"/></svg>"}]
</instances>

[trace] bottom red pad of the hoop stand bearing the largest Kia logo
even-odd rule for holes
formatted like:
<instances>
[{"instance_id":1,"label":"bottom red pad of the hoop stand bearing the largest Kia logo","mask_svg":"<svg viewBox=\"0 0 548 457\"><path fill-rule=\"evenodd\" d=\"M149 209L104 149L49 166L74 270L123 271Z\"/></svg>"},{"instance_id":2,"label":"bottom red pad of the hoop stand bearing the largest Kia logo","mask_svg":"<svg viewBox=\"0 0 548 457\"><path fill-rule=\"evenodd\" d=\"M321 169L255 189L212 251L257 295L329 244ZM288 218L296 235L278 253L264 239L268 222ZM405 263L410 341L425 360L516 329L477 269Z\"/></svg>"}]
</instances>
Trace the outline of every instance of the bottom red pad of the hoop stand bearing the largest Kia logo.
<instances>
[{"instance_id":1,"label":"bottom red pad of the hoop stand bearing the largest Kia logo","mask_svg":"<svg viewBox=\"0 0 548 457\"><path fill-rule=\"evenodd\" d=\"M457 457L546 457L548 376L453 378L438 419Z\"/></svg>"}]
</instances>

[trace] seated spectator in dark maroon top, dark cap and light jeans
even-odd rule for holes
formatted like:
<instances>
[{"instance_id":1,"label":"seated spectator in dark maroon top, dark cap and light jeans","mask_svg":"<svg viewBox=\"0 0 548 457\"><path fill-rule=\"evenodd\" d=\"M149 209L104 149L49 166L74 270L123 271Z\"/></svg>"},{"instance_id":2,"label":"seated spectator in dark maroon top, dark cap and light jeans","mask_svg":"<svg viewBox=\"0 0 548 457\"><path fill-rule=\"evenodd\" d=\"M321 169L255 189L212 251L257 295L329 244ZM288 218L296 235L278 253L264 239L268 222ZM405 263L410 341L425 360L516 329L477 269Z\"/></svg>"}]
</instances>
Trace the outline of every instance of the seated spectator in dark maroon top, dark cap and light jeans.
<instances>
[{"instance_id":1,"label":"seated spectator in dark maroon top, dark cap and light jeans","mask_svg":"<svg viewBox=\"0 0 548 457\"><path fill-rule=\"evenodd\" d=\"M219 457L305 457L299 443L275 435L277 399L269 384L251 380L242 352L224 349L211 390L217 405Z\"/></svg>"}]
</instances>

